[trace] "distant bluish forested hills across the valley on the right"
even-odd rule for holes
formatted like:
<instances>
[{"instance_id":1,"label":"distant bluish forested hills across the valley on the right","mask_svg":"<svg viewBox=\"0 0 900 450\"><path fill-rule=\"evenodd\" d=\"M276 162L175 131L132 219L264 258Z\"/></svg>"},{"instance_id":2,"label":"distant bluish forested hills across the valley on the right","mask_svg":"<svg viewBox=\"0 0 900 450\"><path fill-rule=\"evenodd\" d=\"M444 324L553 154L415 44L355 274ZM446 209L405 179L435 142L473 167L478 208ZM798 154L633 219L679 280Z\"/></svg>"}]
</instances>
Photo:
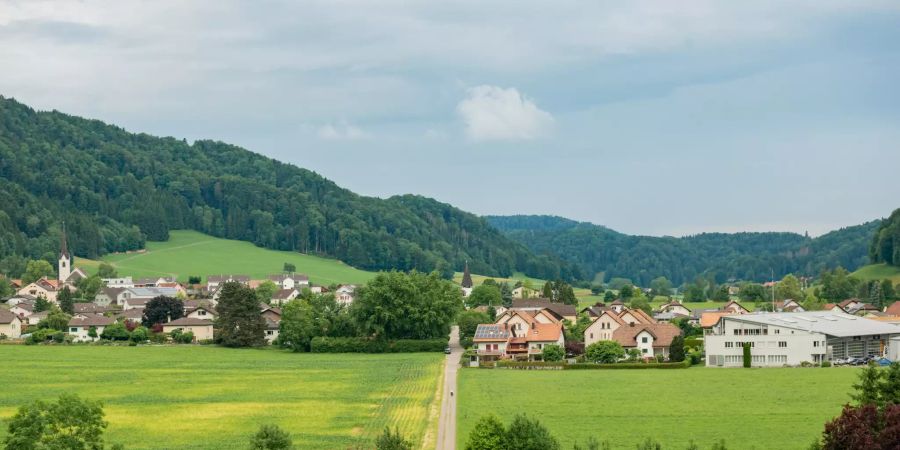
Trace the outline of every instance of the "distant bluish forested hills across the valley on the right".
<instances>
[{"instance_id":1,"label":"distant bluish forested hills across the valley on the right","mask_svg":"<svg viewBox=\"0 0 900 450\"><path fill-rule=\"evenodd\" d=\"M588 278L629 278L647 286L665 276L680 284L698 275L768 280L788 273L818 275L841 265L854 270L868 263L869 246L880 220L842 228L817 238L796 233L703 233L683 238L631 236L591 223L554 216L488 216L508 237L540 254L577 264Z\"/></svg>"}]
</instances>

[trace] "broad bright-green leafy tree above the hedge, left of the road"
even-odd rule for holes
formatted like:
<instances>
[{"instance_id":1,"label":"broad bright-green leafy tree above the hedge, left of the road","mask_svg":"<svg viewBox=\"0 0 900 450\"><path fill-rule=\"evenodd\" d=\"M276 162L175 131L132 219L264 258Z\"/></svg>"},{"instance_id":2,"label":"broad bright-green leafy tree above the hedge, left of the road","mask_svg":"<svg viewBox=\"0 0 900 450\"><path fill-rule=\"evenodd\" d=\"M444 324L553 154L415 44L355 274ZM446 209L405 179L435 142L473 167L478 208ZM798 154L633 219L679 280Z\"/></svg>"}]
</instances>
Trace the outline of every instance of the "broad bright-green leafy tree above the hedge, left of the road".
<instances>
[{"instance_id":1,"label":"broad bright-green leafy tree above the hedge, left of the road","mask_svg":"<svg viewBox=\"0 0 900 450\"><path fill-rule=\"evenodd\" d=\"M436 272L381 272L357 290L350 313L367 336L444 338L462 300L459 287Z\"/></svg>"}]
</instances>

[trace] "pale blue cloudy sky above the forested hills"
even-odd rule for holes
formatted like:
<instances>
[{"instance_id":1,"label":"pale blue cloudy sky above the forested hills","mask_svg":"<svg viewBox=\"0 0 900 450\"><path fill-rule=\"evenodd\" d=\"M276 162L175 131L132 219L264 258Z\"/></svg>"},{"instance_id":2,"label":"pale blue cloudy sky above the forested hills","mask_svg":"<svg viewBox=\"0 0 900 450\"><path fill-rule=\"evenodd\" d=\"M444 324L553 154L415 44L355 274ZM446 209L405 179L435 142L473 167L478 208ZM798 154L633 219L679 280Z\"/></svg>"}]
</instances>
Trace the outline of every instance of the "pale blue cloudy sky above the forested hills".
<instances>
[{"instance_id":1,"label":"pale blue cloudy sky above the forested hills","mask_svg":"<svg viewBox=\"0 0 900 450\"><path fill-rule=\"evenodd\" d=\"M900 207L900 2L0 0L0 95L630 234Z\"/></svg>"}]
</instances>

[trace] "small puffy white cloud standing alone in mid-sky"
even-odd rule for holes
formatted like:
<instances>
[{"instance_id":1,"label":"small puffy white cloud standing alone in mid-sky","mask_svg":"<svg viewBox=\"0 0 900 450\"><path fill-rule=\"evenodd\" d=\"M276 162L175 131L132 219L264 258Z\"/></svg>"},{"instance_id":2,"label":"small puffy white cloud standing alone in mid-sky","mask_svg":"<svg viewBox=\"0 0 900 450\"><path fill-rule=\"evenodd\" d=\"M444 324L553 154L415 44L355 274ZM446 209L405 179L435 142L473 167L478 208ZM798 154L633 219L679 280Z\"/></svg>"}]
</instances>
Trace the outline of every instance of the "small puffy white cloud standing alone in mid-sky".
<instances>
[{"instance_id":1,"label":"small puffy white cloud standing alone in mid-sky","mask_svg":"<svg viewBox=\"0 0 900 450\"><path fill-rule=\"evenodd\" d=\"M472 140L528 140L547 135L553 116L519 93L497 86L469 88L456 106Z\"/></svg>"}]
</instances>

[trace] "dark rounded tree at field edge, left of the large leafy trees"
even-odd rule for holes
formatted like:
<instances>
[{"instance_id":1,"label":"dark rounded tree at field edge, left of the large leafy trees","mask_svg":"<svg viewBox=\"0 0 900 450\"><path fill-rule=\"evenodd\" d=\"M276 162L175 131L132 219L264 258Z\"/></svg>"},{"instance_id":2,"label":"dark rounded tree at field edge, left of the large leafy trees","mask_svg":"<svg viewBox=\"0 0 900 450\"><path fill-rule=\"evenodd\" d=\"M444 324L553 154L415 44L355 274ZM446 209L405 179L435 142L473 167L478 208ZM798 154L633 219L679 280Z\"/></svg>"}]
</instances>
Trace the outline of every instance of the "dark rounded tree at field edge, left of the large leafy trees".
<instances>
[{"instance_id":1,"label":"dark rounded tree at field edge, left of the large leafy trees","mask_svg":"<svg viewBox=\"0 0 900 450\"><path fill-rule=\"evenodd\" d=\"M233 281L224 283L216 310L217 343L226 347L266 345L266 321L253 289Z\"/></svg>"}]
</instances>

